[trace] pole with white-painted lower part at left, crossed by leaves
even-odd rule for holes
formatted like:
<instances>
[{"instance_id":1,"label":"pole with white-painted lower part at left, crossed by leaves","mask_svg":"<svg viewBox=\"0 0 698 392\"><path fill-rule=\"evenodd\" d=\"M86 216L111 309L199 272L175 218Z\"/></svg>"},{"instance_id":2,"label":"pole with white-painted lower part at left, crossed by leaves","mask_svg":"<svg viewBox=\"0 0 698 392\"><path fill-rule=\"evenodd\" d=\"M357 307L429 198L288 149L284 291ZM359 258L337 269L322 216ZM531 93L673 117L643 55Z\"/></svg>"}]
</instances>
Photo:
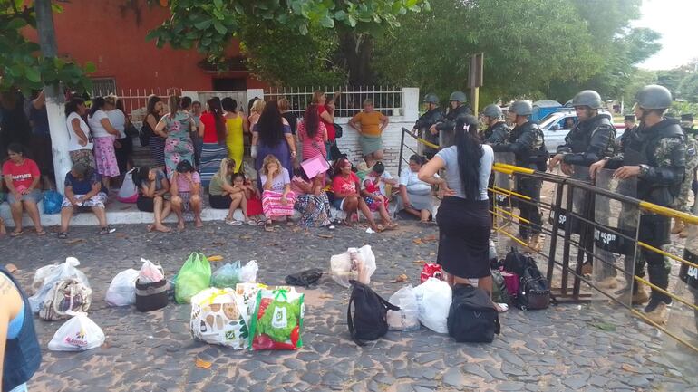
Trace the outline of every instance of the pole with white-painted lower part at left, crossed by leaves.
<instances>
[{"instance_id":1,"label":"pole with white-painted lower part at left, crossed by leaves","mask_svg":"<svg viewBox=\"0 0 698 392\"><path fill-rule=\"evenodd\" d=\"M34 11L42 55L44 58L53 60L57 56L58 50L55 42L55 29L53 28L51 0L35 0ZM55 184L58 192L63 195L65 174L73 166L68 153L69 137L65 124L65 97L59 84L44 85L44 96L46 97L46 112L51 132Z\"/></svg>"}]
</instances>

